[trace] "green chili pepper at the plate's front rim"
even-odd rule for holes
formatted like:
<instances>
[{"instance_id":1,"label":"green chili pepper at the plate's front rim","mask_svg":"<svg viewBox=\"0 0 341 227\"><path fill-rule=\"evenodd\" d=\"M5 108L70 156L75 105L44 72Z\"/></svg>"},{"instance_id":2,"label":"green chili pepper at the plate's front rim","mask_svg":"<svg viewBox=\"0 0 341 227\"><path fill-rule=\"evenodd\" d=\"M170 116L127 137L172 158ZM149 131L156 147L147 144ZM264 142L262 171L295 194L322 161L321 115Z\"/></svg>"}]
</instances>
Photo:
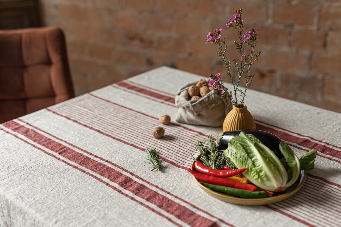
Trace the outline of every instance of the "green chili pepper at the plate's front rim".
<instances>
[{"instance_id":1,"label":"green chili pepper at the plate's front rim","mask_svg":"<svg viewBox=\"0 0 341 227\"><path fill-rule=\"evenodd\" d=\"M232 187L225 187L220 185L208 184L204 182L200 182L202 185L211 188L213 191L223 192L230 195L239 196L241 198L246 199L258 199L258 198L265 198L267 194L264 191L259 192L250 192L248 190L232 188Z\"/></svg>"}]
</instances>

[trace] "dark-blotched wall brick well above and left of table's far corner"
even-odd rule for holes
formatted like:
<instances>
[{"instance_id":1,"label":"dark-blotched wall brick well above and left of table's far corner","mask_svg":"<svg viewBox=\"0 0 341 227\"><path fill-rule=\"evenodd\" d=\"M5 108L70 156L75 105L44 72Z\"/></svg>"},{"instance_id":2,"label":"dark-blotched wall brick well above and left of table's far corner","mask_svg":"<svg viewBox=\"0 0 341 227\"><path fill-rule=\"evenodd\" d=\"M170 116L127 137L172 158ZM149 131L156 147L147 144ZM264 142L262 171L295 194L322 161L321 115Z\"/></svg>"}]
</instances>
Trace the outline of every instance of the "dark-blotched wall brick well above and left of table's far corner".
<instances>
[{"instance_id":1,"label":"dark-blotched wall brick well above and left of table's far corner","mask_svg":"<svg viewBox=\"0 0 341 227\"><path fill-rule=\"evenodd\" d=\"M124 39L124 45L134 48L149 49L154 45L154 37L139 32L127 32Z\"/></svg>"}]
</instances>

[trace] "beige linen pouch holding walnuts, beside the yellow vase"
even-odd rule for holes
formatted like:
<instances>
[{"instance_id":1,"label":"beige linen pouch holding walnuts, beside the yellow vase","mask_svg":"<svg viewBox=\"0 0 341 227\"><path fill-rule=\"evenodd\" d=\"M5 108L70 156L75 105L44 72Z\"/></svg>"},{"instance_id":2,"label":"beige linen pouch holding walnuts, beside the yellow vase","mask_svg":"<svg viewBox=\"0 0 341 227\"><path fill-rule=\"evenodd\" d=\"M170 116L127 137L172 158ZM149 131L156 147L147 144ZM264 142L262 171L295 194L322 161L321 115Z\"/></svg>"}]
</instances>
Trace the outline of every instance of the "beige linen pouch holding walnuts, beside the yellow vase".
<instances>
[{"instance_id":1,"label":"beige linen pouch holding walnuts, beside the yellow vase","mask_svg":"<svg viewBox=\"0 0 341 227\"><path fill-rule=\"evenodd\" d=\"M179 107L175 120L179 123L221 127L227 113L233 108L231 102L221 97L219 90L212 90L199 100L188 100L188 88L198 81L184 85L175 94Z\"/></svg>"}]
</instances>

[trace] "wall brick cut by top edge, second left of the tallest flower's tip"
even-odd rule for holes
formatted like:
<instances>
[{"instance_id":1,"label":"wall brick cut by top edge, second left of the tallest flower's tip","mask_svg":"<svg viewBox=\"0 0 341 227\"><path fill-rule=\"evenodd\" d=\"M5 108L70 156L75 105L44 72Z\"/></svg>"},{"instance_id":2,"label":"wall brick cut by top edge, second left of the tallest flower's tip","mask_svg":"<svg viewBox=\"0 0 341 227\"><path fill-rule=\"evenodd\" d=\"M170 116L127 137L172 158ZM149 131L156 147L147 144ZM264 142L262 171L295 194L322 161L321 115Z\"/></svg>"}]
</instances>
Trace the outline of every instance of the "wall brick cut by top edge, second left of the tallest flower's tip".
<instances>
[{"instance_id":1,"label":"wall brick cut by top edge, second left of the tallest flower's tip","mask_svg":"<svg viewBox=\"0 0 341 227\"><path fill-rule=\"evenodd\" d=\"M158 11L169 14L184 14L188 13L190 5L184 0L157 0Z\"/></svg>"}]
</instances>

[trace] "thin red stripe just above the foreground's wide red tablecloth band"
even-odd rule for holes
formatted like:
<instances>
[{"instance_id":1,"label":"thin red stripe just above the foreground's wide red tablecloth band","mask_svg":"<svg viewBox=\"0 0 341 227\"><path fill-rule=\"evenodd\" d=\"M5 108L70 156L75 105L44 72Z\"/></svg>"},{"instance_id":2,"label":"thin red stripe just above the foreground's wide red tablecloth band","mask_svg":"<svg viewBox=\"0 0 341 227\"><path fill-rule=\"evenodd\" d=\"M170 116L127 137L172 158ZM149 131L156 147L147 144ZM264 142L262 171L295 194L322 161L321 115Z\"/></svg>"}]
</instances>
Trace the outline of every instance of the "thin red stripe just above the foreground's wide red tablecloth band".
<instances>
[{"instance_id":1,"label":"thin red stripe just above the foreground's wide red tablecloth band","mask_svg":"<svg viewBox=\"0 0 341 227\"><path fill-rule=\"evenodd\" d=\"M224 224L226 224L226 225L228 225L228 226L233 226L233 225L231 225L231 224L225 222L224 220L222 220L222 219L220 219L220 218L218 218L218 217L216 217L216 216L213 216L212 214L208 213L207 211L204 211L204 210L198 208L197 206L193 205L192 203L190 203L190 202L188 202L188 201L186 201L186 200L184 200L184 199L182 199L182 198L180 198L180 197L178 197L178 196L176 196L176 195L174 195L174 194L172 194L172 193L170 193L170 192L164 190L163 188L161 188L161 187L159 187L159 186L157 186L157 185L155 185L155 184L153 184L153 183L151 183L151 182L145 180L145 179L142 178L142 177L139 177L139 176L136 175L135 173L133 173L133 172L131 172L131 171L129 171L129 170L127 170L127 169L125 169L125 168L123 168L123 167L121 167L121 166L119 166L119 165L113 163L113 162L110 162L110 161L108 161L108 160L106 160L106 159L104 159L104 158L102 158L102 157L100 157L100 156L97 156L97 155L95 155L95 154L92 154L91 152L88 152L88 151L86 151L86 150L84 150L84 149L81 149L80 147L77 147L77 146L73 145L72 143L69 143L69 142L67 142L67 141L65 141L65 140L63 140L63 139L61 139L61 138L58 138L58 137L56 137L56 136L54 136L54 135L52 135L52 134L50 134L50 133L48 133L48 132L42 130L41 128L38 128L38 127L36 127L36 126L34 126L34 125L32 125L32 124L26 122L26 121L23 121L23 120L21 120L21 119L19 119L19 118L17 118L17 120L19 120L19 121L21 121L21 122L23 122L23 123L25 123L25 124L27 124L27 125L29 125L29 126L35 128L35 129L37 129L37 130L39 130L39 131L41 131L41 132L43 132L43 133L46 133L47 135L49 135L49 136L51 136L51 137L53 137L53 138L56 138L56 139L58 139L58 140L60 140L60 141L63 141L64 143L67 143L68 145L70 145L70 146L72 146L72 147L74 147L74 148L76 148L76 149L78 149L78 150L81 150L81 151L83 151L83 152L85 152L85 153L87 153L87 154L90 154L91 156L93 156L93 157L95 157L95 158L98 158L98 159L100 159L100 160L102 160L102 161L104 161L104 162L106 162L106 163L109 163L110 165L113 165L113 166L115 166L115 167L117 167L117 168L123 170L124 172L129 173L131 176L133 176L133 177L135 177L135 178L137 178L137 179L139 179L139 180L141 180L141 181L143 181L143 182L145 182L145 183L147 183L147 184L149 184L149 185L151 185L151 186L153 186L153 187L155 187L155 188L161 190L162 192L167 193L167 194L170 195L170 196L173 196L173 197L176 198L176 199L179 199L180 201L182 201L182 202L184 202L184 203L187 203L188 205L190 205L191 207L197 209L198 211L201 211L201 212L203 212L203 213L205 213L205 214L207 214L207 215L209 215L209 216L211 216L211 217L213 217L213 218L216 218L217 220L219 220L220 222L222 222L222 223L224 223Z\"/></svg>"}]
</instances>

